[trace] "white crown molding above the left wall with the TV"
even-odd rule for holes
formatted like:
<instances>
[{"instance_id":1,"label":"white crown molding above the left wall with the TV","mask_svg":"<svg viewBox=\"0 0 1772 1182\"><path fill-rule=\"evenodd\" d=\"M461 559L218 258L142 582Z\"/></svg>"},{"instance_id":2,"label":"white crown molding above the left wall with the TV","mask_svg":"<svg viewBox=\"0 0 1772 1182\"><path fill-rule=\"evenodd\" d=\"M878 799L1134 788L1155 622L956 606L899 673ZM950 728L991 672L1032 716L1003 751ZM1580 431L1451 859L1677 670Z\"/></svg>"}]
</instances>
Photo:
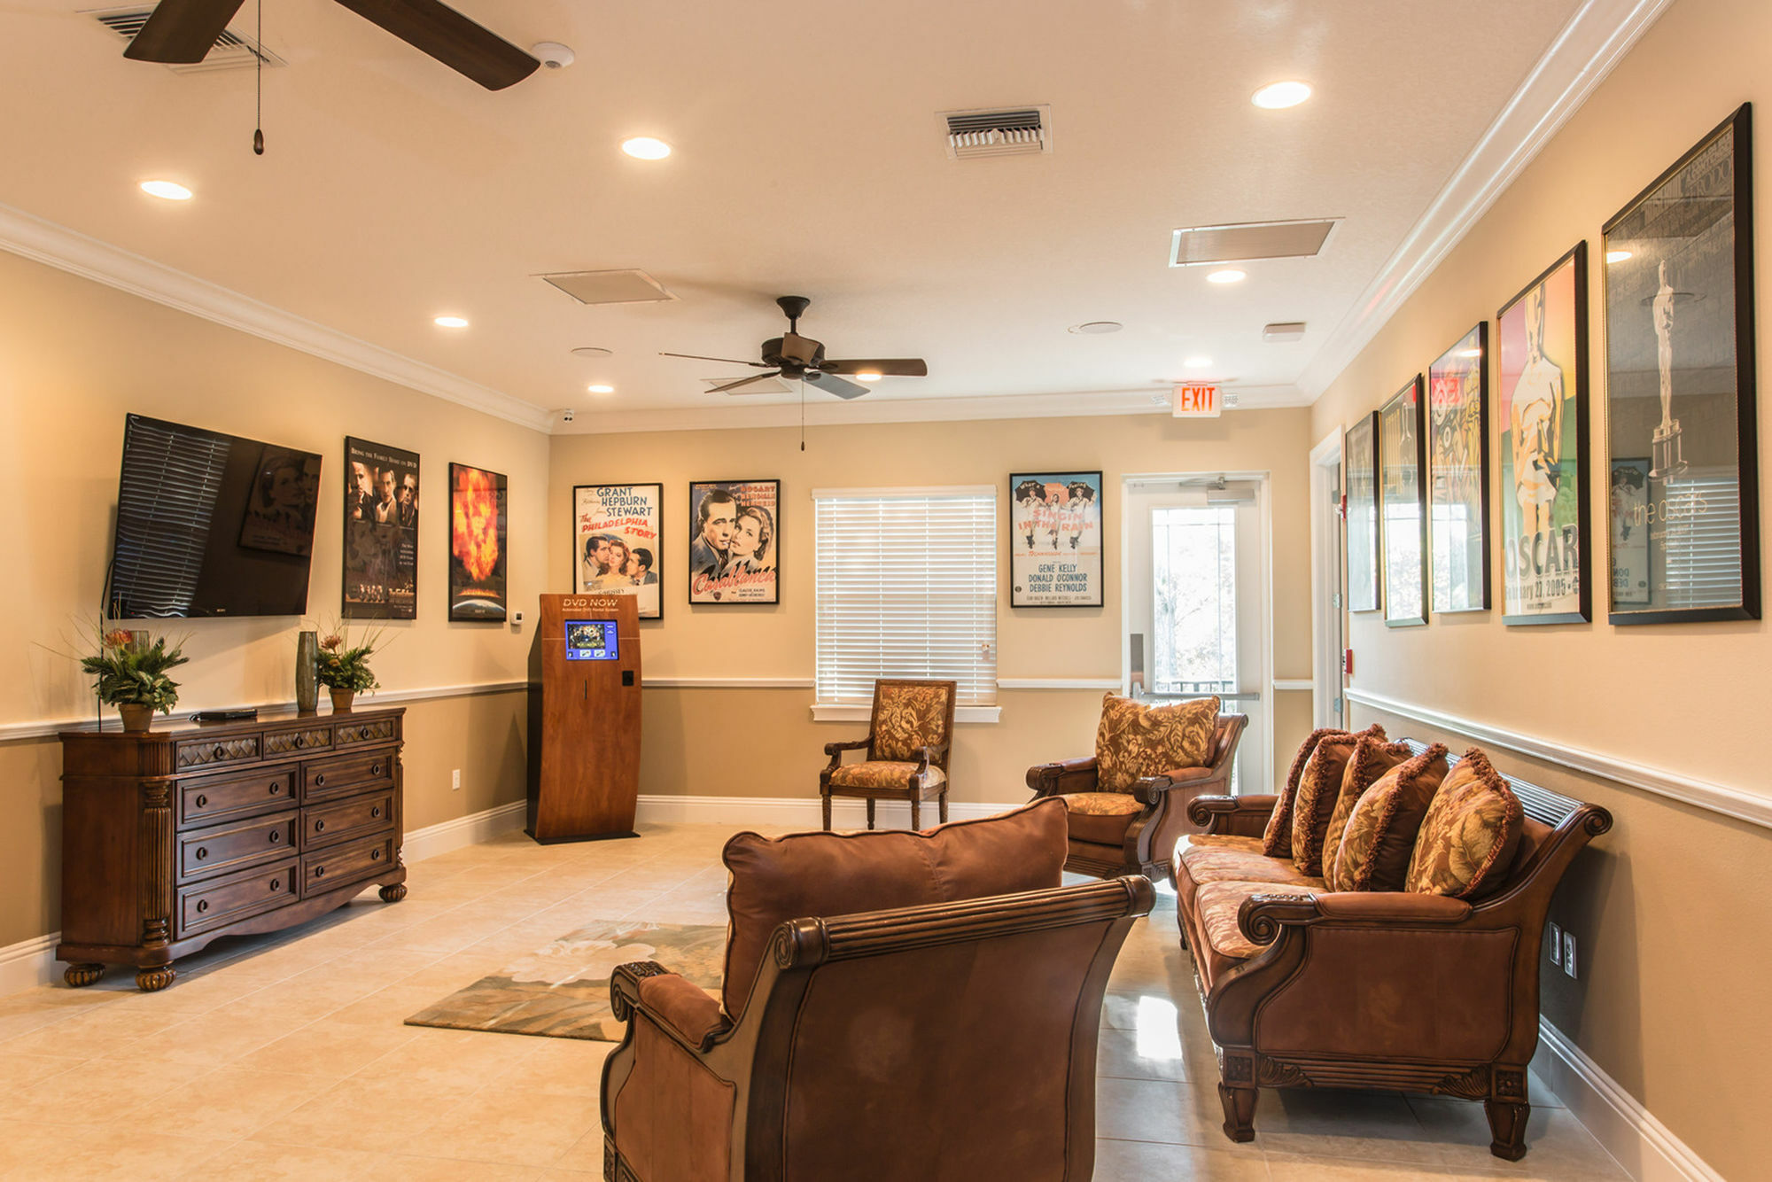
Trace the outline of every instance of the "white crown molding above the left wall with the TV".
<instances>
[{"instance_id":1,"label":"white crown molding above the left wall with the TV","mask_svg":"<svg viewBox=\"0 0 1772 1182\"><path fill-rule=\"evenodd\" d=\"M0 250L530 431L548 431L548 411L532 402L372 346L12 206L0 206Z\"/></svg>"}]
</instances>

